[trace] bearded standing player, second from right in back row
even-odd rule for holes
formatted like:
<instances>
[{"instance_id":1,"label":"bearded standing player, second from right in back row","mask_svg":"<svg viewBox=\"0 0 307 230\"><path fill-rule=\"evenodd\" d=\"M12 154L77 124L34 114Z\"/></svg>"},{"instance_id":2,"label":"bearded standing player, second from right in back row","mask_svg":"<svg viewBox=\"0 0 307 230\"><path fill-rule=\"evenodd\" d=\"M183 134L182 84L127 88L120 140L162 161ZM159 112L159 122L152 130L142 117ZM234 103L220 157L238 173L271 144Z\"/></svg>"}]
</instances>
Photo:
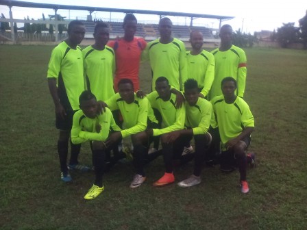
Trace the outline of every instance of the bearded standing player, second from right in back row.
<instances>
[{"instance_id":1,"label":"bearded standing player, second from right in back row","mask_svg":"<svg viewBox=\"0 0 307 230\"><path fill-rule=\"evenodd\" d=\"M194 30L190 34L192 50L186 52L188 62L188 78L195 79L198 83L199 97L207 97L214 79L214 56L202 49L204 37L201 31ZM182 154L191 153L193 147L187 144Z\"/></svg>"}]
</instances>

